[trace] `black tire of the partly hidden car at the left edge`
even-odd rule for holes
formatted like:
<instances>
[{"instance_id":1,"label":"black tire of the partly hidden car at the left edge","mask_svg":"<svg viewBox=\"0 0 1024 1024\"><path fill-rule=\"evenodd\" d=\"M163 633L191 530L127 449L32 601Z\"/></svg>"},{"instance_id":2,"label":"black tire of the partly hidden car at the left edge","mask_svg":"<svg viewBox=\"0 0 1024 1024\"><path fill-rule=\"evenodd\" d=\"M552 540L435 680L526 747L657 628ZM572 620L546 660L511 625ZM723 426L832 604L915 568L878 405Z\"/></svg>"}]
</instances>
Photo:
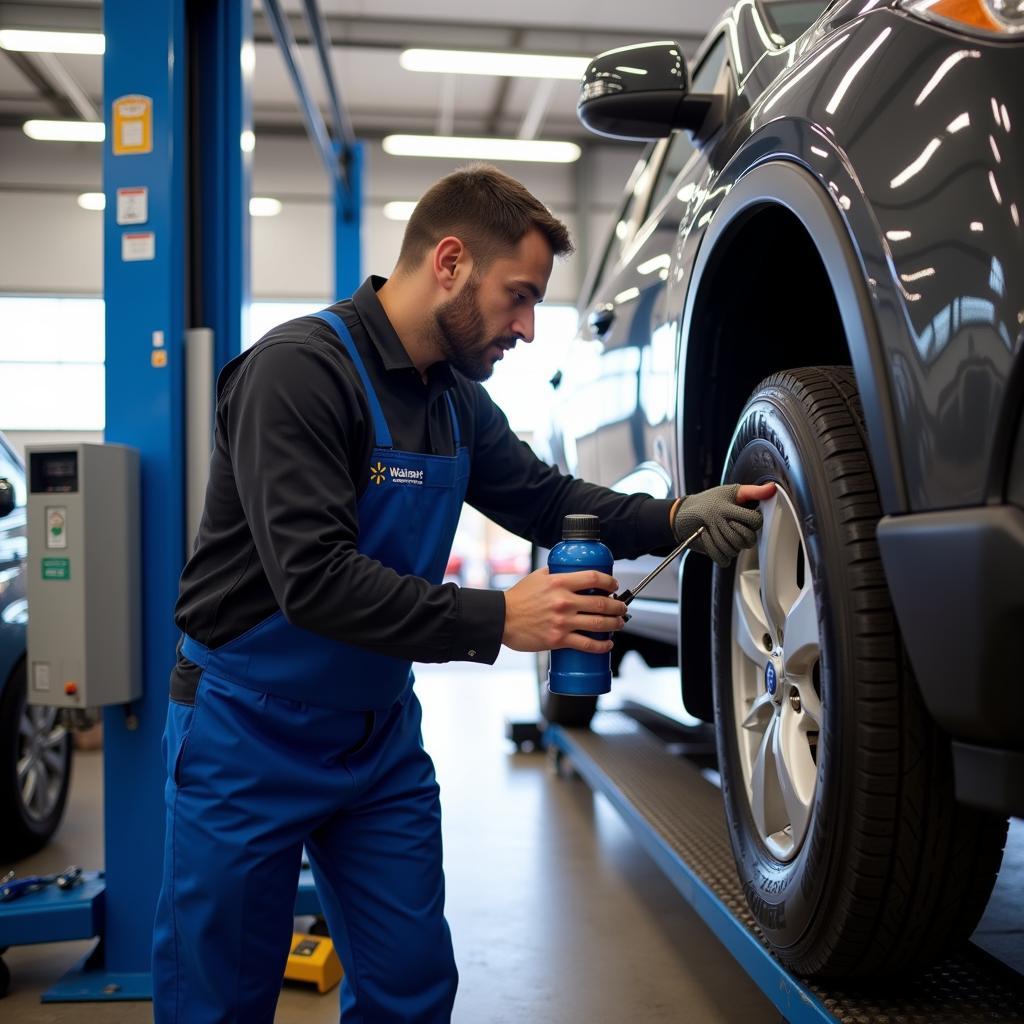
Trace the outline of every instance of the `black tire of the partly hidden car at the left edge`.
<instances>
[{"instance_id":1,"label":"black tire of the partly hidden car at the left edge","mask_svg":"<svg viewBox=\"0 0 1024 1024\"><path fill-rule=\"evenodd\" d=\"M26 758L36 779L26 797ZM71 784L72 736L56 724L56 709L30 708L23 662L0 694L0 861L41 849L63 816ZM42 788L40 788L42 786Z\"/></svg>"}]
</instances>

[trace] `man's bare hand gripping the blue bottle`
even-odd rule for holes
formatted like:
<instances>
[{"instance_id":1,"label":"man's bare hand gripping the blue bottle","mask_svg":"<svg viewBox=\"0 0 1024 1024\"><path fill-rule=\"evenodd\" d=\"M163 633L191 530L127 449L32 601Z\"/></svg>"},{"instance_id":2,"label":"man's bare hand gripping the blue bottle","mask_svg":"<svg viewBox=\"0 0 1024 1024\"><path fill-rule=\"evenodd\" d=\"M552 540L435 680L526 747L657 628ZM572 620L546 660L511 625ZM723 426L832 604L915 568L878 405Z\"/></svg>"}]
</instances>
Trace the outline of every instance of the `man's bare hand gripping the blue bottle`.
<instances>
[{"instance_id":1,"label":"man's bare hand gripping the blue bottle","mask_svg":"<svg viewBox=\"0 0 1024 1024\"><path fill-rule=\"evenodd\" d=\"M505 591L505 632L502 643L512 650L558 650L572 647L590 654L611 650L610 640L581 636L614 633L625 625L626 605L610 597L581 594L601 590L613 594L618 582L596 569L555 572L541 568Z\"/></svg>"}]
</instances>

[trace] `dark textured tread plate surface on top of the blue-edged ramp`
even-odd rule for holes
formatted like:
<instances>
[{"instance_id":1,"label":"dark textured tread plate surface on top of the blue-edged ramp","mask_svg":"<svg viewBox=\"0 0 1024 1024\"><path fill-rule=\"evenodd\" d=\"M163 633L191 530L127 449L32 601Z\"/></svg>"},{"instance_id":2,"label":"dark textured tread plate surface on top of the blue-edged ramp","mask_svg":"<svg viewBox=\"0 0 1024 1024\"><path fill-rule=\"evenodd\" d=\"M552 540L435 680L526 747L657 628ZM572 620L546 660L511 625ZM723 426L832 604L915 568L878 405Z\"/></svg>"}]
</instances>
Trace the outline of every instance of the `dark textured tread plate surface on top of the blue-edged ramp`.
<instances>
[{"instance_id":1,"label":"dark textured tread plate surface on top of the blue-edged ramp","mask_svg":"<svg viewBox=\"0 0 1024 1024\"><path fill-rule=\"evenodd\" d=\"M767 948L736 876L719 791L625 716L562 732ZM807 986L842 1024L1024 1022L1024 980L974 946L898 985Z\"/></svg>"}]
</instances>

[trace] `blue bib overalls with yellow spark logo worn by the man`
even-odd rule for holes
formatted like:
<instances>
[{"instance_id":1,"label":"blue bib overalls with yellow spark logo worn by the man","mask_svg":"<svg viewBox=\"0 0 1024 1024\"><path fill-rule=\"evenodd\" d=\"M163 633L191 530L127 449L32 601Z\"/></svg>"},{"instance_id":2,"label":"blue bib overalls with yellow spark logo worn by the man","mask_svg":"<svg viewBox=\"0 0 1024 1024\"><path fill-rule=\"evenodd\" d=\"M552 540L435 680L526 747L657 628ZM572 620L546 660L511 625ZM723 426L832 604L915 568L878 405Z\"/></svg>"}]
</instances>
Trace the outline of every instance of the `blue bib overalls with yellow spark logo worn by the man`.
<instances>
[{"instance_id":1,"label":"blue bib overalls with yellow spark logo worn by the man","mask_svg":"<svg viewBox=\"0 0 1024 1024\"><path fill-rule=\"evenodd\" d=\"M469 456L395 451L362 359L337 333L376 430L359 551L440 583ZM357 601L358 594L350 600ZM345 969L345 1024L440 1024L458 974L444 920L440 804L409 662L291 626L278 611L199 665L171 702L164 876L154 935L157 1024L270 1024L303 845Z\"/></svg>"}]
</instances>

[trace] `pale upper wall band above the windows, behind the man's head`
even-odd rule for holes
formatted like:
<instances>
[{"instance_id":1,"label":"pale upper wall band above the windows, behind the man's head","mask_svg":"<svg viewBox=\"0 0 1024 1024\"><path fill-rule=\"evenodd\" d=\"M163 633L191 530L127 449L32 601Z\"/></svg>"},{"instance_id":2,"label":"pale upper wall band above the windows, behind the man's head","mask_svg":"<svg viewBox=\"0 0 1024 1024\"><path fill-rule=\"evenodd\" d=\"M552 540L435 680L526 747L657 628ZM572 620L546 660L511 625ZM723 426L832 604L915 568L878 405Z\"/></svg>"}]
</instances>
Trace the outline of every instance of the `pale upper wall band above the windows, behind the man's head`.
<instances>
[{"instance_id":1,"label":"pale upper wall band above the windows, behind the man's head","mask_svg":"<svg viewBox=\"0 0 1024 1024\"><path fill-rule=\"evenodd\" d=\"M636 159L629 145L592 148L593 195L584 199L590 238L606 230L622 186ZM384 203L415 200L455 162L389 157L379 143L366 146L364 270L387 274L403 225L383 216ZM507 165L575 232L578 200L572 165ZM81 210L79 191L101 187L100 147L34 142L13 128L0 129L0 292L99 294L102 290L102 218ZM332 280L332 211L326 175L304 137L257 141L253 193L285 204L278 217L253 221L252 285L255 298L328 298ZM574 302L589 253L559 261L549 301Z\"/></svg>"}]
</instances>

